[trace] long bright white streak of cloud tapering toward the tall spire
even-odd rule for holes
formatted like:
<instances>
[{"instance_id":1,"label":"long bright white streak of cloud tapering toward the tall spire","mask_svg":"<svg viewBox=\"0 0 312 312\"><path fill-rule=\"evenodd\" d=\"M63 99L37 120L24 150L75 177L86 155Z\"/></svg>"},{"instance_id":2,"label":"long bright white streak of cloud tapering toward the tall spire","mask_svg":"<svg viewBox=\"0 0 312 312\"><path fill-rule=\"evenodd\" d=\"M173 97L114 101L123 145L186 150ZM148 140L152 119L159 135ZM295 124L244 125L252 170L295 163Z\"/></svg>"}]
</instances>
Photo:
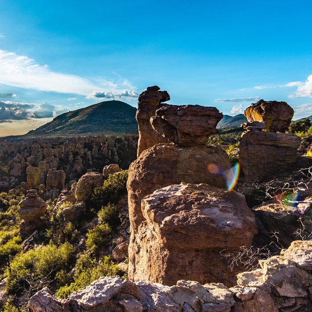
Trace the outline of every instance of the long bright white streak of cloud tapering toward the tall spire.
<instances>
[{"instance_id":1,"label":"long bright white streak of cloud tapering toward the tall spire","mask_svg":"<svg viewBox=\"0 0 312 312\"><path fill-rule=\"evenodd\" d=\"M117 82L105 79L91 80L57 73L50 70L48 65L40 65L27 56L4 50L0 50L0 73L0 83L4 85L83 96L89 95L92 90L101 89L108 94L118 94L123 92L125 86L130 86L127 80ZM131 91L135 87L131 86L129 89Z\"/></svg>"}]
</instances>

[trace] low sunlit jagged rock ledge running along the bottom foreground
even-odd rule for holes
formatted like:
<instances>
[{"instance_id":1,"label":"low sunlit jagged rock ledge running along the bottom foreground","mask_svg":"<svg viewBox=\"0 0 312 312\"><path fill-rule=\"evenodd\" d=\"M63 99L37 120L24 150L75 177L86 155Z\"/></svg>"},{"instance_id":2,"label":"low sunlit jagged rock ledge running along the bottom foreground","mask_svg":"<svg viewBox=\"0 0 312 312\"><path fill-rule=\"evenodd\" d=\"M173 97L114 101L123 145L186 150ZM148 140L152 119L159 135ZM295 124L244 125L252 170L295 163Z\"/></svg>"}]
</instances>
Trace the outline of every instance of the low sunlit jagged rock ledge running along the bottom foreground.
<instances>
[{"instance_id":1,"label":"low sunlit jagged rock ledge running along the bottom foreground","mask_svg":"<svg viewBox=\"0 0 312 312\"><path fill-rule=\"evenodd\" d=\"M101 277L68 299L48 288L29 300L32 312L309 312L312 309L312 241L294 241L260 269L238 274L237 286L200 285L179 280L174 286Z\"/></svg>"}]
</instances>

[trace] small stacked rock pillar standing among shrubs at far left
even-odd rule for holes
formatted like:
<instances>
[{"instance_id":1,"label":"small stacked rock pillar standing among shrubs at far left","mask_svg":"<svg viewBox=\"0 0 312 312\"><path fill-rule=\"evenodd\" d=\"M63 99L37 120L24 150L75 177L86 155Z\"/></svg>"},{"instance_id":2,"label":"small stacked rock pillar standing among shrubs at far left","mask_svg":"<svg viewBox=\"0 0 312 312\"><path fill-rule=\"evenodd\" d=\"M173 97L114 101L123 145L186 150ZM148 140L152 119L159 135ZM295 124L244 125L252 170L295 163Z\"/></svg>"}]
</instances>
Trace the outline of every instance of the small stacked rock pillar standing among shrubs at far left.
<instances>
[{"instance_id":1,"label":"small stacked rock pillar standing among shrubs at far left","mask_svg":"<svg viewBox=\"0 0 312 312\"><path fill-rule=\"evenodd\" d=\"M19 215L22 219L20 223L20 235L26 238L43 224L41 217L47 209L47 204L43 199L38 197L37 190L29 190L19 205Z\"/></svg>"}]
</instances>

